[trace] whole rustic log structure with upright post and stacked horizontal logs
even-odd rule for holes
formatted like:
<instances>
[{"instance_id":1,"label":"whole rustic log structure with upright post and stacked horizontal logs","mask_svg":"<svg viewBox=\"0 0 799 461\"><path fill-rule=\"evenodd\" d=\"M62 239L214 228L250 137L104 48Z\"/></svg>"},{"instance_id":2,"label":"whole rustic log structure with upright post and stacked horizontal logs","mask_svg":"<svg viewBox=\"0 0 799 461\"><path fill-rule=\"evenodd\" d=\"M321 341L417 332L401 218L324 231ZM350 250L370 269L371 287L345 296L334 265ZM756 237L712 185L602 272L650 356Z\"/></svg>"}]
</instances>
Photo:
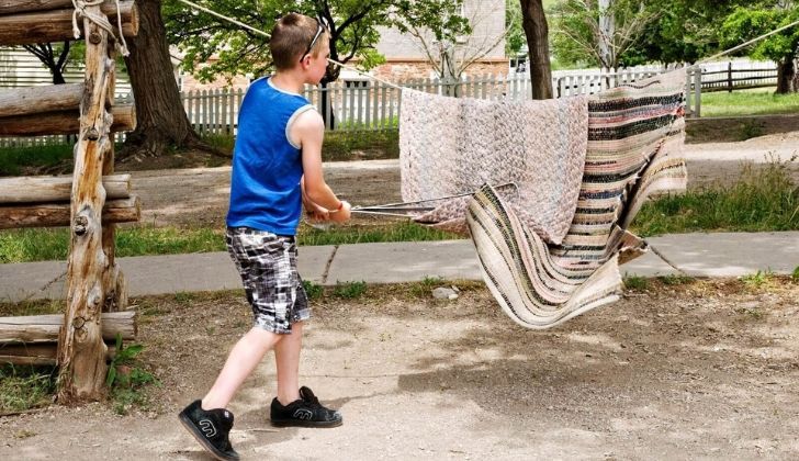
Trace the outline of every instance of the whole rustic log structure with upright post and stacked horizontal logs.
<instances>
[{"instance_id":1,"label":"whole rustic log structure with upright post and stacked horizontal logs","mask_svg":"<svg viewBox=\"0 0 799 461\"><path fill-rule=\"evenodd\" d=\"M0 180L0 229L71 232L65 314L0 318L0 363L57 364L61 403L102 398L106 342L117 331L135 335L134 314L123 311L114 223L138 221L140 207L130 177L113 175L112 136L136 123L132 105L114 105L114 83L115 41L136 35L138 10L134 0L75 8L72 0L0 0L0 46L71 41L74 26L86 41L82 83L0 91L0 136L77 135L71 178Z\"/></svg>"}]
</instances>

